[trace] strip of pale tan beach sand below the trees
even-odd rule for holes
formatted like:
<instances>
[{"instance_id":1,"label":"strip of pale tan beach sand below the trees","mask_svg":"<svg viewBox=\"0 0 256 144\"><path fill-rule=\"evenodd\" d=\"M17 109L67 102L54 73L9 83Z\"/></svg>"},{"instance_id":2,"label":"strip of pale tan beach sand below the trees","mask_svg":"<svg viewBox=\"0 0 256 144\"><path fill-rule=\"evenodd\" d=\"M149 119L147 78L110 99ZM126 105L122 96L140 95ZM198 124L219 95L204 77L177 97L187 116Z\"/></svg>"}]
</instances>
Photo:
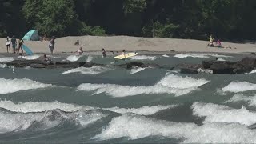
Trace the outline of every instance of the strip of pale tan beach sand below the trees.
<instances>
[{"instance_id":1,"label":"strip of pale tan beach sand below the trees","mask_svg":"<svg viewBox=\"0 0 256 144\"><path fill-rule=\"evenodd\" d=\"M74 42L79 40L80 45L74 46ZM30 47L35 54L48 54L49 42L25 41L25 45ZM224 46L232 49L208 47L208 41L176 38L140 38L129 36L70 36L56 38L54 53L72 53L81 46L84 51L99 54L102 48L106 51L144 51L148 53L170 52L202 52L202 53L251 53L256 51L255 43L231 43L222 42ZM214 43L215 44L215 43ZM6 38L0 38L0 53L6 53ZM97 52L98 51L98 52Z\"/></svg>"}]
</instances>

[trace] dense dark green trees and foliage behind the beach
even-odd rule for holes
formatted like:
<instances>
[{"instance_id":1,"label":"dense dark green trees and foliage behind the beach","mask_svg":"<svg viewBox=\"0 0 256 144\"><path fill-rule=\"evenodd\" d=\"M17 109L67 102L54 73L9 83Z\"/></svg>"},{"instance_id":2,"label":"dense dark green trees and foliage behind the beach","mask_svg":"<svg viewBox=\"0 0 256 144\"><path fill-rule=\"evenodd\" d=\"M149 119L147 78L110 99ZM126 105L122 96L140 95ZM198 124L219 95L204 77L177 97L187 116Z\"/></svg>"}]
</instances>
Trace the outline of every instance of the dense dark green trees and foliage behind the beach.
<instances>
[{"instance_id":1,"label":"dense dark green trees and foliage behind the beach","mask_svg":"<svg viewBox=\"0 0 256 144\"><path fill-rule=\"evenodd\" d=\"M254 0L0 0L0 36L254 39Z\"/></svg>"}]
</instances>

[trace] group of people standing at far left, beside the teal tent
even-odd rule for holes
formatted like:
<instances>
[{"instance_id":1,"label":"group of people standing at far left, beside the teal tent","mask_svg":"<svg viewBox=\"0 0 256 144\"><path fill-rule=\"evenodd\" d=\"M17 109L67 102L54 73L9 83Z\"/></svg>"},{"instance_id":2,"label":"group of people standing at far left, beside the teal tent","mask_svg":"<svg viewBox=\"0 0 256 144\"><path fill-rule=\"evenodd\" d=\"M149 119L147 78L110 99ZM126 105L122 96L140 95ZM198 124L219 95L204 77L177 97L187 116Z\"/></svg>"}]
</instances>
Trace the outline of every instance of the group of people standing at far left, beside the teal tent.
<instances>
[{"instance_id":1,"label":"group of people standing at far left, beside the teal tent","mask_svg":"<svg viewBox=\"0 0 256 144\"><path fill-rule=\"evenodd\" d=\"M17 47L17 44L18 44L18 47ZM12 47L12 52L14 54L15 53L19 54L20 50L23 53L23 48L22 48L23 44L24 44L24 41L21 38L19 38L18 42L17 42L17 39L15 38L15 36L13 36L12 38L7 36L7 38L6 38L6 50L7 50L7 53L10 52L10 46Z\"/></svg>"}]
</instances>

